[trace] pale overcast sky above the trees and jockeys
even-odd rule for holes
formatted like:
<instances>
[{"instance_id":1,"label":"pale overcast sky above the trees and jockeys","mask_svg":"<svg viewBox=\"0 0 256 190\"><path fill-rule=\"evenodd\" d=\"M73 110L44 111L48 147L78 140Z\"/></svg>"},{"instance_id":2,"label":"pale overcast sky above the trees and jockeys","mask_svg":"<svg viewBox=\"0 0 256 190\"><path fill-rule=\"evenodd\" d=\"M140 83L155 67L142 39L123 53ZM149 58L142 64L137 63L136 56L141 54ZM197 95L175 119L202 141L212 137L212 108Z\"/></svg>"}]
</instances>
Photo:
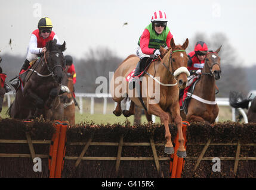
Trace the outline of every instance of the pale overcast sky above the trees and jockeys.
<instances>
[{"instance_id":1,"label":"pale overcast sky above the trees and jockeys","mask_svg":"<svg viewBox=\"0 0 256 190\"><path fill-rule=\"evenodd\" d=\"M60 41L66 41L65 55L82 58L90 48L109 47L115 55L126 58L135 53L138 38L159 9L166 12L175 43L182 44L197 32L206 36L222 32L243 64L256 64L254 0L1 0L0 56L26 56L30 35L39 19L50 17Z\"/></svg>"}]
</instances>

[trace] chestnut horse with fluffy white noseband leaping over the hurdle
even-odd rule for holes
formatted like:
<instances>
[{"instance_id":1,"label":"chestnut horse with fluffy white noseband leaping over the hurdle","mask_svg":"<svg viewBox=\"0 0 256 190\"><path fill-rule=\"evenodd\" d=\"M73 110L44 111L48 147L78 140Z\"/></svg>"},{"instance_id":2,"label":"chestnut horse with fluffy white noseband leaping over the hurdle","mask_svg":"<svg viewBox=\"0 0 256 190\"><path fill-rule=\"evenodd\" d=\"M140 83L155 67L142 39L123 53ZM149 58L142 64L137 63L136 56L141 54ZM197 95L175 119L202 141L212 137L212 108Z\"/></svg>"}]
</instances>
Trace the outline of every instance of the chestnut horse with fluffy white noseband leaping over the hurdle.
<instances>
[{"instance_id":1,"label":"chestnut horse with fluffy white noseband leaping over the hurdle","mask_svg":"<svg viewBox=\"0 0 256 190\"><path fill-rule=\"evenodd\" d=\"M124 62L116 69L110 83L110 91L113 100L118 103L115 111L116 116L121 115L121 101L127 97L131 99L131 107L127 111L127 116L134 114L134 104L144 108L148 115L156 115L161 118L165 126L165 153L173 154L174 148L171 142L171 133L169 132L169 123L174 122L178 129L178 147L177 156L186 157L184 148L184 138L181 130L180 106L178 103L179 87L185 88L187 85L187 54L186 48L189 40L181 45L175 45L174 39L171 39L171 49L168 49L161 60L152 62L147 69L147 75L141 77L142 85L129 90L128 82L125 79L127 75L135 68L140 60L135 55L128 56ZM162 52L162 50L161 50ZM151 76L151 77L150 77ZM153 78L153 79L152 79ZM121 84L119 84L121 82ZM138 89L141 91L143 104L138 97ZM143 106L144 105L144 106ZM146 105L146 106L145 106ZM124 113L124 112L123 112Z\"/></svg>"}]
</instances>

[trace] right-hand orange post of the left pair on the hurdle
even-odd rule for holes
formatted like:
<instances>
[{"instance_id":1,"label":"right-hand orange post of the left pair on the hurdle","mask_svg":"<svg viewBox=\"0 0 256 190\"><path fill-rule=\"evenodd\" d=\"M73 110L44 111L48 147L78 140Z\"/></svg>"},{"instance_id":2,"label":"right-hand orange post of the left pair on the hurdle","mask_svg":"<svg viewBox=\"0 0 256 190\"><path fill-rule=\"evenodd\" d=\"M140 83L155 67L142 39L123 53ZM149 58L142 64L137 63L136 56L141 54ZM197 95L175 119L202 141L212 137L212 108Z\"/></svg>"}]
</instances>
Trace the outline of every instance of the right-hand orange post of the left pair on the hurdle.
<instances>
[{"instance_id":1,"label":"right-hand orange post of the left pair on the hurdle","mask_svg":"<svg viewBox=\"0 0 256 190\"><path fill-rule=\"evenodd\" d=\"M61 171L63 169L64 162L64 151L66 150L66 132L68 125L69 124L67 122L62 122L61 124L60 138L58 141L57 162L55 167L55 178L61 178Z\"/></svg>"}]
</instances>

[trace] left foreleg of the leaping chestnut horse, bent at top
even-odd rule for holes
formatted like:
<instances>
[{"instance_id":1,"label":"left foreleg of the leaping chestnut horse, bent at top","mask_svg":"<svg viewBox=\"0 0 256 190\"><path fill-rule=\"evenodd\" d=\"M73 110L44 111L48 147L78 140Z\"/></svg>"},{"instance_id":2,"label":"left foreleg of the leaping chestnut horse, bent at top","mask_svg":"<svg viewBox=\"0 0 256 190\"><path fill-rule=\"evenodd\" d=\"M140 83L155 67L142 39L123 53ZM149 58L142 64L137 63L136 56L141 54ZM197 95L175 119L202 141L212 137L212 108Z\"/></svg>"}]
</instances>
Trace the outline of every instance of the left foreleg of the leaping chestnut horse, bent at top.
<instances>
[{"instance_id":1,"label":"left foreleg of the leaping chestnut horse, bent at top","mask_svg":"<svg viewBox=\"0 0 256 190\"><path fill-rule=\"evenodd\" d=\"M174 148L171 142L171 132L169 131L169 116L168 113L164 112L162 108L158 104L149 104L148 106L148 113L153 114L156 116L159 116L161 118L161 121L164 122L165 126L165 139L166 139L166 144L165 144L165 153L167 154L173 154L174 153Z\"/></svg>"}]
</instances>

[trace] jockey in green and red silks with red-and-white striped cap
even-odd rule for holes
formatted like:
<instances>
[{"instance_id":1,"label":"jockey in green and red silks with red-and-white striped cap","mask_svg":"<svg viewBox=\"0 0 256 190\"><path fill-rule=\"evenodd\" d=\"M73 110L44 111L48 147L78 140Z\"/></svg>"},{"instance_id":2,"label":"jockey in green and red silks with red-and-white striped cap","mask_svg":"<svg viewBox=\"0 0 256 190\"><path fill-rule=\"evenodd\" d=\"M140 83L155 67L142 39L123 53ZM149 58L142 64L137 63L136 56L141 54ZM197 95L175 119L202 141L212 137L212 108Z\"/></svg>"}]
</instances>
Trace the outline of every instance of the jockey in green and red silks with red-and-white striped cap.
<instances>
[{"instance_id":1,"label":"jockey in green and red silks with red-and-white striped cap","mask_svg":"<svg viewBox=\"0 0 256 190\"><path fill-rule=\"evenodd\" d=\"M151 23L144 29L143 34L138 40L138 47L136 55L140 58L138 62L134 77L129 81L129 89L134 88L134 83L138 83L138 75L148 65L148 59L152 59L155 56L161 55L159 48L161 46L170 47L172 34L169 28L166 26L167 18L164 11L156 11L153 13Z\"/></svg>"}]
</instances>

